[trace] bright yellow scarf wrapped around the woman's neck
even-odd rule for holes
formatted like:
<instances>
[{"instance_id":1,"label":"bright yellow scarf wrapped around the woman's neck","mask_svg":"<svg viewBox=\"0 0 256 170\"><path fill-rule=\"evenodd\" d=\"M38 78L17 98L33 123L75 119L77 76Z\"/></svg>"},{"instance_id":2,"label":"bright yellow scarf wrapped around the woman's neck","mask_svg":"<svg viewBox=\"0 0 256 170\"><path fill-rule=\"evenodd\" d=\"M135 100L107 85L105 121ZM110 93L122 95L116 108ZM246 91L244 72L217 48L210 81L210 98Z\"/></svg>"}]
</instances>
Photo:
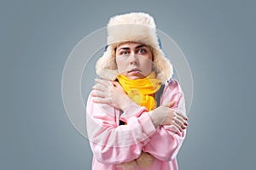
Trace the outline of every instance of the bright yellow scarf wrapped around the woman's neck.
<instances>
[{"instance_id":1,"label":"bright yellow scarf wrapped around the woman's neck","mask_svg":"<svg viewBox=\"0 0 256 170\"><path fill-rule=\"evenodd\" d=\"M137 103L145 106L148 111L154 110L156 101L154 93L160 89L160 81L155 78L155 73L151 72L143 79L131 80L124 75L119 75L119 83L125 89L128 96Z\"/></svg>"}]
</instances>

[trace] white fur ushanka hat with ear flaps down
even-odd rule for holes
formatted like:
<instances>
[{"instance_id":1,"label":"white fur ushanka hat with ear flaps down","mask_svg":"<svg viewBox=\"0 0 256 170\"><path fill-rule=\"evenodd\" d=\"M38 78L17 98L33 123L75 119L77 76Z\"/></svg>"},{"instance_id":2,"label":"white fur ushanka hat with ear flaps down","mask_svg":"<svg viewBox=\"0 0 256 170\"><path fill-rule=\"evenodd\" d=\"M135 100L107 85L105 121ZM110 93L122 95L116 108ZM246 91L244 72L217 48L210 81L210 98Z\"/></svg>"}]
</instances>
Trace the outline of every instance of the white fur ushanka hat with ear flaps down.
<instances>
[{"instance_id":1,"label":"white fur ushanka hat with ear flaps down","mask_svg":"<svg viewBox=\"0 0 256 170\"><path fill-rule=\"evenodd\" d=\"M115 48L121 42L141 42L151 47L153 71L160 82L165 83L173 73L172 65L160 48L154 19L149 14L130 13L113 16L108 22L108 48L96 62L96 74L115 80L119 72L115 62Z\"/></svg>"}]
</instances>

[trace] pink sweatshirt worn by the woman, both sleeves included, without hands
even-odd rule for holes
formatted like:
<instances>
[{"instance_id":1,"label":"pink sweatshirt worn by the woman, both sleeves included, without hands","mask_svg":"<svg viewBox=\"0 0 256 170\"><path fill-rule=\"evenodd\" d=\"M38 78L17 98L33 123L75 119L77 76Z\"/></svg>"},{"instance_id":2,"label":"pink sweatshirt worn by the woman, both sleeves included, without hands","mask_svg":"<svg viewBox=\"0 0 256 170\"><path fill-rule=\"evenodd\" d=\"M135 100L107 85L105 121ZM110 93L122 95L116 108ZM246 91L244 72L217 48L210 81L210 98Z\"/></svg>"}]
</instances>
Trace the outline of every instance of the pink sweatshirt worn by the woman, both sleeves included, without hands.
<instances>
[{"instance_id":1,"label":"pink sweatshirt worn by the woman, both sleeves included, without hands","mask_svg":"<svg viewBox=\"0 0 256 170\"><path fill-rule=\"evenodd\" d=\"M160 105L177 101L173 109L185 115L182 89L172 79L160 98ZM88 98L87 132L93 151L92 170L121 170L116 164L132 161L142 151L154 156L153 166L148 170L177 170L177 153L183 144L185 131L180 133L174 126L154 127L145 107L132 103L126 111L110 105L99 105ZM126 125L119 125L119 120ZM143 170L137 167L136 170Z\"/></svg>"}]
</instances>

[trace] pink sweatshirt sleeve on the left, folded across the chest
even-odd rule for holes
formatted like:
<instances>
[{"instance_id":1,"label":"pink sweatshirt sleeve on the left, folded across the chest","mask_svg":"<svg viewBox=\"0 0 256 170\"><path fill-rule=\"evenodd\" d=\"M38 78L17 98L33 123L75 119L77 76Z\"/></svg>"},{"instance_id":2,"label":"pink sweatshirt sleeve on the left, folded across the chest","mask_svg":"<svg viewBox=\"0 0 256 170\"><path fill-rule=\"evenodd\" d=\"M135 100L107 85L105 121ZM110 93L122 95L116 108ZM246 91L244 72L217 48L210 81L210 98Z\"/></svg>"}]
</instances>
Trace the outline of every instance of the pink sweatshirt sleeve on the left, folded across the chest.
<instances>
[{"instance_id":1,"label":"pink sweatshirt sleeve on the left, folded across the chest","mask_svg":"<svg viewBox=\"0 0 256 170\"><path fill-rule=\"evenodd\" d=\"M97 161L104 164L132 161L141 155L143 146L156 132L146 108L135 103L129 108L122 118L126 125L119 125L119 110L110 105L96 104L89 96L86 127L90 147Z\"/></svg>"}]
</instances>

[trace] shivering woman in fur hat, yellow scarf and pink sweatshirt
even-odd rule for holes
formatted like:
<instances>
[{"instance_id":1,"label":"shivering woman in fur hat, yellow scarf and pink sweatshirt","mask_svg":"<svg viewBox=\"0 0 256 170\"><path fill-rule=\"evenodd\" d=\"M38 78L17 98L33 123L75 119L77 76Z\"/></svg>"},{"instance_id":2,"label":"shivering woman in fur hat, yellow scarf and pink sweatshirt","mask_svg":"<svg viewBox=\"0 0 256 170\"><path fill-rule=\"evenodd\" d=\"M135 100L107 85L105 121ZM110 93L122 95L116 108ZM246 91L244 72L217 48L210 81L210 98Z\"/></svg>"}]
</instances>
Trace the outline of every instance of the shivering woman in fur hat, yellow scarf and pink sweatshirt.
<instances>
[{"instance_id":1,"label":"shivering woman in fur hat, yellow scarf and pink sweatshirt","mask_svg":"<svg viewBox=\"0 0 256 170\"><path fill-rule=\"evenodd\" d=\"M176 170L188 117L154 19L143 13L111 18L96 73L101 79L86 107L92 169Z\"/></svg>"}]
</instances>

